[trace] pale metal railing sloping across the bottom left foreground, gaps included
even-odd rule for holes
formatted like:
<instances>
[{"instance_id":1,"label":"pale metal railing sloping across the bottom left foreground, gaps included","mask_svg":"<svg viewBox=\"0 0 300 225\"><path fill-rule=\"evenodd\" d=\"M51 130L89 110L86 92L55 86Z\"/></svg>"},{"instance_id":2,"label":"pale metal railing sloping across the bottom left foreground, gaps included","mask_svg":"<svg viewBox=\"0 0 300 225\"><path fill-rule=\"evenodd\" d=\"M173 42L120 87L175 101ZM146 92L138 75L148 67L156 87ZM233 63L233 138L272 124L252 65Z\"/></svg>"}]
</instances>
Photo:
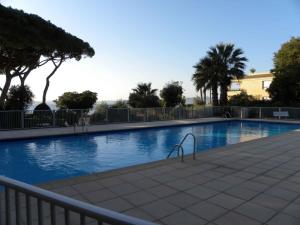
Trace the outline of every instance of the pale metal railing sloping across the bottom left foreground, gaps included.
<instances>
[{"instance_id":1,"label":"pale metal railing sloping across the bottom left foreground, gaps included","mask_svg":"<svg viewBox=\"0 0 300 225\"><path fill-rule=\"evenodd\" d=\"M0 176L0 186L4 187L1 193L3 204L0 204L3 207L0 209L1 225L154 225L4 176Z\"/></svg>"}]
</instances>

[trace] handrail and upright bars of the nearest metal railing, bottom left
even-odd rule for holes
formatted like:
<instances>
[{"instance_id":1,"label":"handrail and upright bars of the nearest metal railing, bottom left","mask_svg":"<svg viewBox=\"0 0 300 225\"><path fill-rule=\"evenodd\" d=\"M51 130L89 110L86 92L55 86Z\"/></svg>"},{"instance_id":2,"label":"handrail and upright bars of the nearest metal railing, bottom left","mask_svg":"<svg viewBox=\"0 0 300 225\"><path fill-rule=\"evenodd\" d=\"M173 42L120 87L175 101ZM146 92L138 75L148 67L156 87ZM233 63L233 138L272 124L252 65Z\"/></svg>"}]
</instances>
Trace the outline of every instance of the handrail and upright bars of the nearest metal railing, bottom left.
<instances>
[{"instance_id":1,"label":"handrail and upright bars of the nearest metal railing, bottom left","mask_svg":"<svg viewBox=\"0 0 300 225\"><path fill-rule=\"evenodd\" d=\"M43 203L50 204L50 218L51 224L56 224L55 207L61 207L64 209L65 224L70 224L70 212L75 212L80 215L80 224L85 224L86 218L95 219L98 224L121 224L121 225L154 225L152 222L148 222L142 219L138 219L132 216L114 212L108 209L104 209L98 206L91 205L89 203L81 202L76 199L72 199L60 194L47 191L45 189L35 187L5 176L0 176L0 185L5 188L5 224L12 224L12 218L15 218L16 223L20 221L20 194L25 195L26 199L26 220L31 224L31 198L36 198L38 201L38 220L39 224L43 224ZM15 201L11 199L10 191L15 192ZM13 203L15 203L15 213L12 210ZM12 215L13 214L13 215ZM15 216L15 217L13 217ZM0 220L1 224L1 220Z\"/></svg>"}]
</instances>

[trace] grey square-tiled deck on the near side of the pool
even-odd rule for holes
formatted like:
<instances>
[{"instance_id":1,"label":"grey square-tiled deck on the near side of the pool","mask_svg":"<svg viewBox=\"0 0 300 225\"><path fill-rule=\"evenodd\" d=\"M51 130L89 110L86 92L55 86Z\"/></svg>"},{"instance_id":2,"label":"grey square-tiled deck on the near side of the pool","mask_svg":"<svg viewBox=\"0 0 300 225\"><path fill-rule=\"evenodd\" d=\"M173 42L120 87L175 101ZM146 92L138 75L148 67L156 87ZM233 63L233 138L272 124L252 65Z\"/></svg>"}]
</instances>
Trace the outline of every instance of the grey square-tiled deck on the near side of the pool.
<instances>
[{"instance_id":1,"label":"grey square-tiled deck on the near side of the pool","mask_svg":"<svg viewBox=\"0 0 300 225\"><path fill-rule=\"evenodd\" d=\"M300 224L300 133L42 187L159 224Z\"/></svg>"}]
</instances>

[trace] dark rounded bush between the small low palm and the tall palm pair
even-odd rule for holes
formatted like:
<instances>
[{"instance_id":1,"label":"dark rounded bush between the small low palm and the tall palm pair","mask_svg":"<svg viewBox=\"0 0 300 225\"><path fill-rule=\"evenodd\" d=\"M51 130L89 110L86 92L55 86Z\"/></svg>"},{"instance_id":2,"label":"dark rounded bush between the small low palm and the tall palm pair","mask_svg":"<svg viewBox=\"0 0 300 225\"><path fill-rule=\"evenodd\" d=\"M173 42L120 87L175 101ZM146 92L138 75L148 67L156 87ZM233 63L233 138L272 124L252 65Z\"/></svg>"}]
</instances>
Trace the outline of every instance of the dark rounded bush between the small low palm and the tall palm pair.
<instances>
[{"instance_id":1,"label":"dark rounded bush between the small low palm and the tall palm pair","mask_svg":"<svg viewBox=\"0 0 300 225\"><path fill-rule=\"evenodd\" d=\"M172 81L167 83L160 91L160 97L163 99L165 107L184 105L185 98L183 96L182 83L179 81Z\"/></svg>"}]
</instances>

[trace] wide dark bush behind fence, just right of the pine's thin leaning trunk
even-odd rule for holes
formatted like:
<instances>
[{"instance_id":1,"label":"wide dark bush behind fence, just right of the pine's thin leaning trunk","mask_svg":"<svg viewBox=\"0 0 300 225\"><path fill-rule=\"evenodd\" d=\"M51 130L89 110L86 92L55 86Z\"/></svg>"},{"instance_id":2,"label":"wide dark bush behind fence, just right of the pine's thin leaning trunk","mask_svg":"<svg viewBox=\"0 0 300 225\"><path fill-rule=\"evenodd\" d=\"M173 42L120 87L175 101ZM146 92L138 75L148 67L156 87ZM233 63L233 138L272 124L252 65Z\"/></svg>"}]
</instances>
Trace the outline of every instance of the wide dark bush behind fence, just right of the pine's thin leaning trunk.
<instances>
[{"instance_id":1,"label":"wide dark bush behind fence, just right of the pine's thin leaning trunk","mask_svg":"<svg viewBox=\"0 0 300 225\"><path fill-rule=\"evenodd\" d=\"M97 101L97 93L91 91L65 92L54 102L61 109L91 109Z\"/></svg>"}]
</instances>

